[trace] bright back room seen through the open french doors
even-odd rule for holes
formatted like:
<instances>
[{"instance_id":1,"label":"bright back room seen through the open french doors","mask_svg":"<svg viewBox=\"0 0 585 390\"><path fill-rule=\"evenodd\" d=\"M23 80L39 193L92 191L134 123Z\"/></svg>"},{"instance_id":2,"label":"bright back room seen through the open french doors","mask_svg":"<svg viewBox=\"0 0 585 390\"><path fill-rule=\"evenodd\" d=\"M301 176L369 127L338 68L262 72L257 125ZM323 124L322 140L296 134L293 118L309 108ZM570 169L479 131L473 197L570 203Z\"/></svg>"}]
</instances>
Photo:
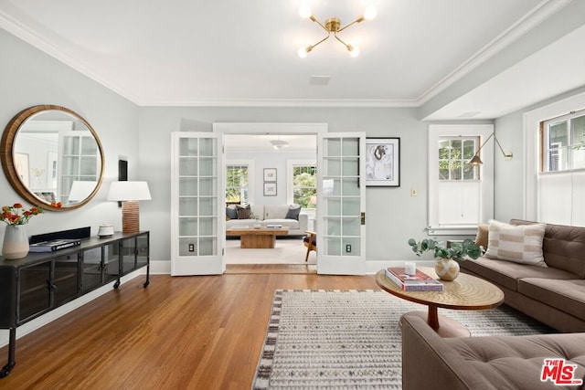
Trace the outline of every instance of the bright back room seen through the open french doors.
<instances>
[{"instance_id":1,"label":"bright back room seen through the open french doors","mask_svg":"<svg viewBox=\"0 0 585 390\"><path fill-rule=\"evenodd\" d=\"M231 205L226 229L254 224L277 224L289 227L287 234L276 236L275 249L240 248L240 236L228 236L226 267L250 264L312 264L313 252L305 263L306 248L303 237L314 230L316 207L316 149L315 135L252 135L228 134L226 147L226 202ZM251 218L239 218L237 206L250 206ZM294 205L300 206L299 215L291 223L264 220L265 207L282 207L282 218ZM227 210L228 211L228 210ZM295 222L298 221L298 222ZM257 245L252 245L257 247ZM239 270L245 269L238 267ZM311 269L314 270L314 267Z\"/></svg>"}]
</instances>

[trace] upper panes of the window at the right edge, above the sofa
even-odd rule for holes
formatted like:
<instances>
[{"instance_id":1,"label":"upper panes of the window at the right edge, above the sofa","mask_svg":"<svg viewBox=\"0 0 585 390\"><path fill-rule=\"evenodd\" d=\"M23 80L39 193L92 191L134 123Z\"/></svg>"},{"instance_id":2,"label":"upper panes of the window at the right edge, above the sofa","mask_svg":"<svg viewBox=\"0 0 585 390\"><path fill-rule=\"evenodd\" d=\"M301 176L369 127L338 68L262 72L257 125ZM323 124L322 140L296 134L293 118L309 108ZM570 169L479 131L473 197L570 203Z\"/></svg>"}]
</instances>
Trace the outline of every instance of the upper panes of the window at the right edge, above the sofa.
<instances>
[{"instance_id":1,"label":"upper panes of the window at the right edge, above the sofa","mask_svg":"<svg viewBox=\"0 0 585 390\"><path fill-rule=\"evenodd\" d=\"M541 132L542 172L585 168L585 110L544 121Z\"/></svg>"}]
</instances>

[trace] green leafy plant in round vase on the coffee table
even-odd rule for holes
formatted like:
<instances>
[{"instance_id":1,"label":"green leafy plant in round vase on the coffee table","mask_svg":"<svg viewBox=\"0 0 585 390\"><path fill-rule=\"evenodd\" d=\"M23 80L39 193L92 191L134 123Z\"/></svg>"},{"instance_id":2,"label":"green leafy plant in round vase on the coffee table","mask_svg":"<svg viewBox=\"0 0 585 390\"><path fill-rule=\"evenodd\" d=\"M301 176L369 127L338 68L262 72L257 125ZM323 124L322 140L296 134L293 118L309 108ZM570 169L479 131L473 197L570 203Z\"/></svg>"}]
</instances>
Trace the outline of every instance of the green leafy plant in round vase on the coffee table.
<instances>
[{"instance_id":1,"label":"green leafy plant in round vase on the coffee table","mask_svg":"<svg viewBox=\"0 0 585 390\"><path fill-rule=\"evenodd\" d=\"M484 254L484 248L475 244L469 238L465 238L461 242L452 242L449 248L433 238L425 238L420 241L410 238L409 245L417 256L425 252L433 252L433 256L437 259L435 272L439 276L439 279L442 280L453 280L457 278L459 275L459 263L457 260L463 261L467 258L476 259Z\"/></svg>"}]
</instances>

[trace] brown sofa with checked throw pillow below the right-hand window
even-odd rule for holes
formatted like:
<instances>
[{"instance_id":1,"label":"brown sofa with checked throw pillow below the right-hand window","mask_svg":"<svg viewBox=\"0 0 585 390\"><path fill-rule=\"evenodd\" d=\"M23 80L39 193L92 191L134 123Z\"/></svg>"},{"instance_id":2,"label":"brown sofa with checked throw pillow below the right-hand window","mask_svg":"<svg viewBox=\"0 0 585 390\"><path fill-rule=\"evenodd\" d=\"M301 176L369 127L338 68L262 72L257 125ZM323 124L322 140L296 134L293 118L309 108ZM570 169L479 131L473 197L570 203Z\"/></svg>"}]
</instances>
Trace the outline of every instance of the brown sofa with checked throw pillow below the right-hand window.
<instances>
[{"instance_id":1,"label":"brown sofa with checked throw pillow below the right-hand window","mask_svg":"<svg viewBox=\"0 0 585 390\"><path fill-rule=\"evenodd\" d=\"M487 251L462 261L463 272L491 281L505 304L560 332L585 332L585 227L490 221L476 242Z\"/></svg>"}]
</instances>

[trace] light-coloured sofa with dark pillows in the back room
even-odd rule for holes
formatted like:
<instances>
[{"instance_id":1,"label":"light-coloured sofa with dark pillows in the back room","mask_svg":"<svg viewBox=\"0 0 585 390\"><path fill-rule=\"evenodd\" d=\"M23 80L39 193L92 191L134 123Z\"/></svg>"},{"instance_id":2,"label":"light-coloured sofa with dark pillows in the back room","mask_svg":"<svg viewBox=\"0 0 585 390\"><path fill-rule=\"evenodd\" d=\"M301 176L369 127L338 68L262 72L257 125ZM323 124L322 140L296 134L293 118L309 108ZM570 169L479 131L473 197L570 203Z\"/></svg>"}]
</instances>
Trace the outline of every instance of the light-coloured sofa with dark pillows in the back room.
<instances>
[{"instance_id":1,"label":"light-coloured sofa with dark pillows in the back room","mask_svg":"<svg viewBox=\"0 0 585 390\"><path fill-rule=\"evenodd\" d=\"M226 228L282 225L289 228L289 236L305 236L309 218L301 211L298 205L229 205L226 207Z\"/></svg>"}]
</instances>

